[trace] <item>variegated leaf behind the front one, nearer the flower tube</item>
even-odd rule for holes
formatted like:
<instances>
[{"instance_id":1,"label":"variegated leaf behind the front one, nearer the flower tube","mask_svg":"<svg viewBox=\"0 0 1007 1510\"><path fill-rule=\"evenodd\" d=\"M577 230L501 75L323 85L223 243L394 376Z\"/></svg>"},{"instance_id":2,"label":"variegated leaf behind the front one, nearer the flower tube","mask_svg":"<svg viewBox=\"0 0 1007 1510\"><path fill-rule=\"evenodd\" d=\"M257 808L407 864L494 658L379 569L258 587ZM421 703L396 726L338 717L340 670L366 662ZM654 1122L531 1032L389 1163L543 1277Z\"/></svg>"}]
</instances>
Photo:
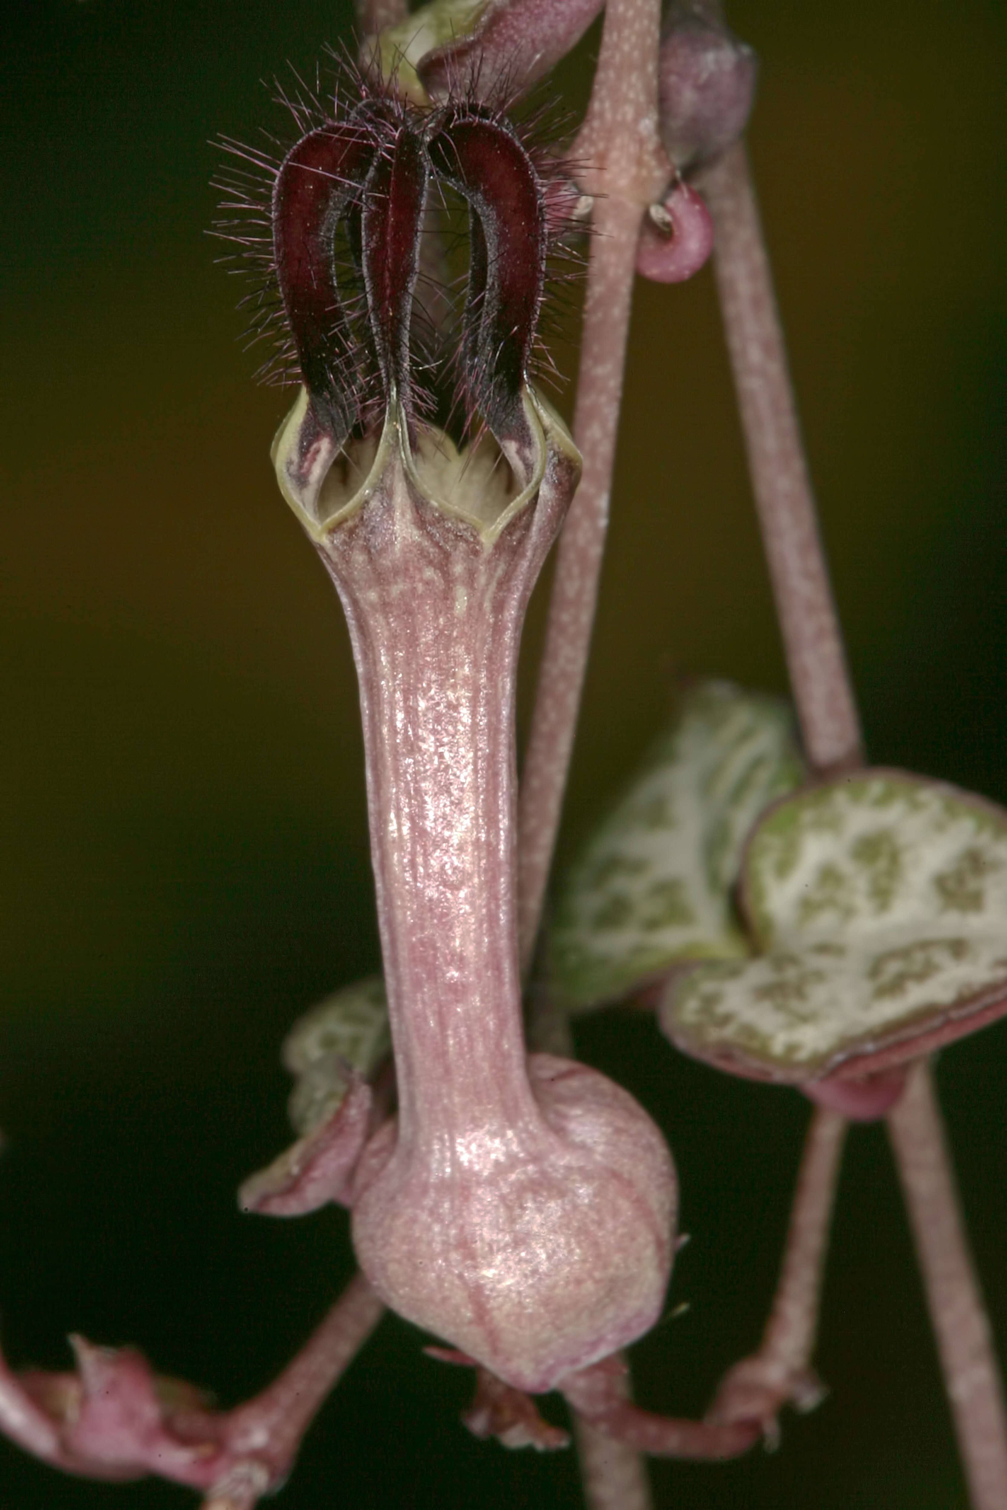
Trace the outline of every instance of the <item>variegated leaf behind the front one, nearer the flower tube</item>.
<instances>
[{"instance_id":1,"label":"variegated leaf behind the front one, nearer the flower tube","mask_svg":"<svg viewBox=\"0 0 1007 1510\"><path fill-rule=\"evenodd\" d=\"M731 895L744 840L800 779L785 704L726 681L693 689L560 889L548 939L560 1003L586 1010L684 960L749 954Z\"/></svg>"}]
</instances>

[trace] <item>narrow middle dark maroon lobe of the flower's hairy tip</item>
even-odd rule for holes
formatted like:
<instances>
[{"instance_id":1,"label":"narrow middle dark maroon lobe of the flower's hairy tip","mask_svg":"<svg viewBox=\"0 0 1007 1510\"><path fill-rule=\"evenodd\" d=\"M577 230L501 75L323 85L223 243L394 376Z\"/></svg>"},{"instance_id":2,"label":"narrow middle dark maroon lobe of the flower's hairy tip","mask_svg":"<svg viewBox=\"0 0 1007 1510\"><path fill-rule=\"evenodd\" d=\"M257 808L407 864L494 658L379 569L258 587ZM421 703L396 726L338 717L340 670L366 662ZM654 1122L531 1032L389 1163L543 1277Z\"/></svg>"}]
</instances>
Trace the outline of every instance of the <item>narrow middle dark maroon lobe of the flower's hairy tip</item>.
<instances>
[{"instance_id":1,"label":"narrow middle dark maroon lobe of the flower's hairy tip","mask_svg":"<svg viewBox=\"0 0 1007 1510\"><path fill-rule=\"evenodd\" d=\"M386 397L405 405L409 390L409 317L420 270L420 237L427 198L427 159L421 140L399 127L364 189L364 287L374 349Z\"/></svg>"}]
</instances>

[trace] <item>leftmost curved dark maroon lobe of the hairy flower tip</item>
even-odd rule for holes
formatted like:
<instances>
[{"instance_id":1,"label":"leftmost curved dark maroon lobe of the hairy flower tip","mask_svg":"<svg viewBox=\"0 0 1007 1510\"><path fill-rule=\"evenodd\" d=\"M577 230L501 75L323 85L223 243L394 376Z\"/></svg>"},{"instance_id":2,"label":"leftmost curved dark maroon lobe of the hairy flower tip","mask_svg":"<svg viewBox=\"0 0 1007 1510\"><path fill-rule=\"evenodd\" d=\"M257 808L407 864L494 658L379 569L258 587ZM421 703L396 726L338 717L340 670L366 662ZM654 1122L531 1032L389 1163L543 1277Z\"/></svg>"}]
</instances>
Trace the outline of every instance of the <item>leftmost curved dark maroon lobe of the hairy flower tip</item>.
<instances>
[{"instance_id":1,"label":"leftmost curved dark maroon lobe of the hairy flower tip","mask_svg":"<svg viewBox=\"0 0 1007 1510\"><path fill-rule=\"evenodd\" d=\"M356 385L335 234L373 159L374 133L362 122L322 125L291 148L273 189L279 293L316 418L337 445L356 421Z\"/></svg>"}]
</instances>

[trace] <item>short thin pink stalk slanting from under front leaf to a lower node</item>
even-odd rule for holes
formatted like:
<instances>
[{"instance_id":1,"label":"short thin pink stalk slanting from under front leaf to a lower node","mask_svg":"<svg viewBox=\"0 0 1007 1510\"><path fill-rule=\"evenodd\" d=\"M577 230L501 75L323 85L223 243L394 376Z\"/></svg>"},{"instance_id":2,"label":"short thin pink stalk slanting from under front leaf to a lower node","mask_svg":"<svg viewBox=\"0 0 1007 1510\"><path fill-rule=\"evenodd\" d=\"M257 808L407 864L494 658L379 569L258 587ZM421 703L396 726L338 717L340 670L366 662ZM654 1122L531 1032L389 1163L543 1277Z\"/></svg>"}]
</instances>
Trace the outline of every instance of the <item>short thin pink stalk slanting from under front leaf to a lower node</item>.
<instances>
[{"instance_id":1,"label":"short thin pink stalk slanting from under front leaf to a lower node","mask_svg":"<svg viewBox=\"0 0 1007 1510\"><path fill-rule=\"evenodd\" d=\"M770 1444L781 1406L809 1410L821 1398L811 1356L845 1129L838 1111L812 1113L762 1344L728 1373L711 1409L714 1421L759 1419Z\"/></svg>"}]
</instances>

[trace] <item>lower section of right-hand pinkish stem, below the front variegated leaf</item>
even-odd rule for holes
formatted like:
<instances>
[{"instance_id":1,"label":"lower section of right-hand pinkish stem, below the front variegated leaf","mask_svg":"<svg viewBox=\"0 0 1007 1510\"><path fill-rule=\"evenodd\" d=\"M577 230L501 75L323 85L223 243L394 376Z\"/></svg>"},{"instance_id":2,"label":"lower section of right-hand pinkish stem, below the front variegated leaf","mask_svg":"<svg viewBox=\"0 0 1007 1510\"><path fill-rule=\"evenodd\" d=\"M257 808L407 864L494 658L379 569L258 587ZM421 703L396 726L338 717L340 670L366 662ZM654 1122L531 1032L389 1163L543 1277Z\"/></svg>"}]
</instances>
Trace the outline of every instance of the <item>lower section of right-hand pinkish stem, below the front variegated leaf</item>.
<instances>
[{"instance_id":1,"label":"lower section of right-hand pinkish stem, below the front variegated leaf","mask_svg":"<svg viewBox=\"0 0 1007 1510\"><path fill-rule=\"evenodd\" d=\"M930 1066L888 1114L972 1510L1007 1505L1007 1416L990 1326L963 1237Z\"/></svg>"}]
</instances>

